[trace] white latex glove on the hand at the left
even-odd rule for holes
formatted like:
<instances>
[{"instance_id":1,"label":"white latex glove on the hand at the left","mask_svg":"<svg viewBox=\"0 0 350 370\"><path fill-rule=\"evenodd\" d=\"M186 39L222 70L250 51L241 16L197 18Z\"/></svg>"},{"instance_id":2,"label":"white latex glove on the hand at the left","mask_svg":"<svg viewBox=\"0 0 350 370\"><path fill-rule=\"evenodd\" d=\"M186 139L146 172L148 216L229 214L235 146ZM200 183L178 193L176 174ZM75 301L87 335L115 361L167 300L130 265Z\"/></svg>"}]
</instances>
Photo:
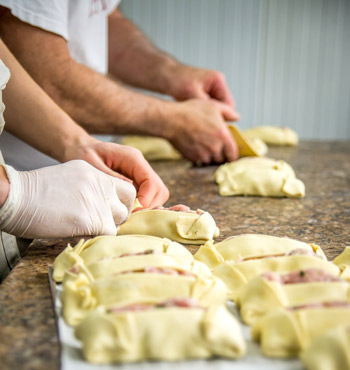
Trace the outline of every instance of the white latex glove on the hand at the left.
<instances>
[{"instance_id":1,"label":"white latex glove on the hand at the left","mask_svg":"<svg viewBox=\"0 0 350 370\"><path fill-rule=\"evenodd\" d=\"M115 235L136 191L85 161L19 172L5 166L10 192L0 209L0 229L24 238Z\"/></svg>"}]
</instances>

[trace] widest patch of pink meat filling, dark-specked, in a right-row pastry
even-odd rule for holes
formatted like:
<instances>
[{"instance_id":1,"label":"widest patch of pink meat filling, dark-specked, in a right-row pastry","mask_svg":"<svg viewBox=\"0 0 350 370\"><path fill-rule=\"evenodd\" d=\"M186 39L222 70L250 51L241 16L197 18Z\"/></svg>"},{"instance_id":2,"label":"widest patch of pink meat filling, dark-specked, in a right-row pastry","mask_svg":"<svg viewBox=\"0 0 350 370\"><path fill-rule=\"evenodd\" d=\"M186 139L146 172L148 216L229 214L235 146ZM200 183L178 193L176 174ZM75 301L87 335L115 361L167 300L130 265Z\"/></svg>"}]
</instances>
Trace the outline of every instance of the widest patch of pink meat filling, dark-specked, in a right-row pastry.
<instances>
[{"instance_id":1,"label":"widest patch of pink meat filling, dark-specked, in a right-row pastry","mask_svg":"<svg viewBox=\"0 0 350 370\"><path fill-rule=\"evenodd\" d=\"M289 274L277 274L275 272L265 272L261 275L267 280L276 281L280 284L301 284L311 282L336 282L343 281L336 276L330 275L328 272L310 268L306 270L293 271Z\"/></svg>"}]
</instances>

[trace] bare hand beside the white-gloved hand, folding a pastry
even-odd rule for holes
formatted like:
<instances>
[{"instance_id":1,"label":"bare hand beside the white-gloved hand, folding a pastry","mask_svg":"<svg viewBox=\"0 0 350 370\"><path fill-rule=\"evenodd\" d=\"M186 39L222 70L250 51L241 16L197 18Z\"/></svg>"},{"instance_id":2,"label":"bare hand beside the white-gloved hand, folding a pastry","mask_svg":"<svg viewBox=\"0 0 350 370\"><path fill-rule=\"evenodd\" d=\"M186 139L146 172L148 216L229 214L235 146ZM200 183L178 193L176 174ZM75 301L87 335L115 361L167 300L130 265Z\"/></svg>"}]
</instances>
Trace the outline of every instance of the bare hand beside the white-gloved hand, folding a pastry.
<instances>
[{"instance_id":1,"label":"bare hand beside the white-gloved hand, folding a pastry","mask_svg":"<svg viewBox=\"0 0 350 370\"><path fill-rule=\"evenodd\" d=\"M143 207L161 206L169 198L167 187L138 149L94 140L70 148L66 157L84 159L111 176L132 180Z\"/></svg>"}]
</instances>

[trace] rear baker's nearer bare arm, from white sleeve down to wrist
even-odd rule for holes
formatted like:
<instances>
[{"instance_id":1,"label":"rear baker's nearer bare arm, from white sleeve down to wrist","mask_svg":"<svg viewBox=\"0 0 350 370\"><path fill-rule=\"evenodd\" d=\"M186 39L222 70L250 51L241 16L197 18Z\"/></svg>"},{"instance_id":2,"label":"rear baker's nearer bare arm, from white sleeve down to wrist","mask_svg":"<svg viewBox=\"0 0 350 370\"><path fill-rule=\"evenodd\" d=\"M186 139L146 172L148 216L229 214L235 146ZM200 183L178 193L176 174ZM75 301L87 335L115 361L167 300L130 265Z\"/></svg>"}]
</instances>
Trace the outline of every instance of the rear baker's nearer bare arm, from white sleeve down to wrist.
<instances>
[{"instance_id":1,"label":"rear baker's nearer bare arm, from white sleeve down to wrist","mask_svg":"<svg viewBox=\"0 0 350 370\"><path fill-rule=\"evenodd\" d=\"M173 103L129 91L75 62L63 38L23 23L10 13L1 19L0 32L34 80L89 132L166 136L164 112Z\"/></svg>"}]
</instances>

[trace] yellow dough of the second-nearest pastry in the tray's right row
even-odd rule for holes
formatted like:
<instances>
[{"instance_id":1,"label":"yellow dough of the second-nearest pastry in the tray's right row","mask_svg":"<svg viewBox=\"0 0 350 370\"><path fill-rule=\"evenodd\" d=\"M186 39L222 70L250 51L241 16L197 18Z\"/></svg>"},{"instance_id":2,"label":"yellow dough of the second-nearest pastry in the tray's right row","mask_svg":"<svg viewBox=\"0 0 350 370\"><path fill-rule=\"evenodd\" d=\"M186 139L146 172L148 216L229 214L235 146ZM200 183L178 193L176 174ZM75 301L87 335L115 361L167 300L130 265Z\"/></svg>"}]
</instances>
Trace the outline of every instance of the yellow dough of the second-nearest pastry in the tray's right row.
<instances>
[{"instance_id":1,"label":"yellow dough of the second-nearest pastry in the tray's right row","mask_svg":"<svg viewBox=\"0 0 350 370\"><path fill-rule=\"evenodd\" d=\"M293 357L326 330L349 322L350 308L276 309L257 321L252 337L266 356Z\"/></svg>"}]
</instances>

